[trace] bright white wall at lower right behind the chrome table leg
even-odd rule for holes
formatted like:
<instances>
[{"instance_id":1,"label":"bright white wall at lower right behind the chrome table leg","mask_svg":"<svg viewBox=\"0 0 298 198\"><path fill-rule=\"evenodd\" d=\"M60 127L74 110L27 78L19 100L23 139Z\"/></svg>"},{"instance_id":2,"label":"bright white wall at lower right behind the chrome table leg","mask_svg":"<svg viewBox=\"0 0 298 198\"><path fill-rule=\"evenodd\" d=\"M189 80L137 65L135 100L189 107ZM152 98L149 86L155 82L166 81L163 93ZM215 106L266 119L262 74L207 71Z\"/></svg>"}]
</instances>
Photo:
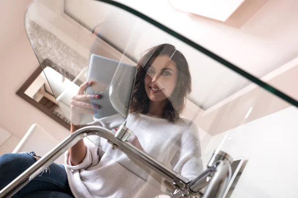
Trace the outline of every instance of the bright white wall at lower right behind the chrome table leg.
<instances>
[{"instance_id":1,"label":"bright white wall at lower right behind the chrome table leg","mask_svg":"<svg viewBox=\"0 0 298 198\"><path fill-rule=\"evenodd\" d=\"M297 118L292 106L213 136L204 164L216 148L248 159L232 198L296 198Z\"/></svg>"}]
</instances>

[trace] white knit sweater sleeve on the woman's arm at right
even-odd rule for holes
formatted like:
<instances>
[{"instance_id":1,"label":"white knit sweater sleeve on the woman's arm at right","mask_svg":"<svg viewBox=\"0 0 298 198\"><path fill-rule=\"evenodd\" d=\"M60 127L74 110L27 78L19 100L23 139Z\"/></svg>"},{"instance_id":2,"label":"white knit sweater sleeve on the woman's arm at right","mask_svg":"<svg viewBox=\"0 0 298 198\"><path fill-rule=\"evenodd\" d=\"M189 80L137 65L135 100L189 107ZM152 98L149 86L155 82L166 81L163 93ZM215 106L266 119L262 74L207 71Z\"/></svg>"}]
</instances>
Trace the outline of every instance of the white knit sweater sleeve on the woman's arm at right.
<instances>
[{"instance_id":1,"label":"white knit sweater sleeve on the woman's arm at right","mask_svg":"<svg viewBox=\"0 0 298 198\"><path fill-rule=\"evenodd\" d=\"M173 170L183 177L193 180L203 171L201 145L196 124L190 123L181 134L181 147L173 157Z\"/></svg>"}]
</instances>

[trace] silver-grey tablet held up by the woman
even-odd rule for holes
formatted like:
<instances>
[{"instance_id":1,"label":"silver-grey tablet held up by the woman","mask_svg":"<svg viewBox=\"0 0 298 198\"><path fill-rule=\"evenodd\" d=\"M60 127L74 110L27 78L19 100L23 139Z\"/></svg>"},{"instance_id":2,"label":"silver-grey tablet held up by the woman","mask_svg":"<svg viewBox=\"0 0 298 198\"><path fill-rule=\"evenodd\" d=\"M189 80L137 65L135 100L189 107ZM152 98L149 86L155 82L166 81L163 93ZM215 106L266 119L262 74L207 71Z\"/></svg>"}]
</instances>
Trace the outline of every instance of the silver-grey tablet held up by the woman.
<instances>
[{"instance_id":1,"label":"silver-grey tablet held up by the woman","mask_svg":"<svg viewBox=\"0 0 298 198\"><path fill-rule=\"evenodd\" d=\"M127 117L133 93L137 67L124 62L92 54L87 81L96 81L87 88L86 94L99 94L92 99L94 119L121 114ZM98 106L99 108L96 108Z\"/></svg>"}]
</instances>

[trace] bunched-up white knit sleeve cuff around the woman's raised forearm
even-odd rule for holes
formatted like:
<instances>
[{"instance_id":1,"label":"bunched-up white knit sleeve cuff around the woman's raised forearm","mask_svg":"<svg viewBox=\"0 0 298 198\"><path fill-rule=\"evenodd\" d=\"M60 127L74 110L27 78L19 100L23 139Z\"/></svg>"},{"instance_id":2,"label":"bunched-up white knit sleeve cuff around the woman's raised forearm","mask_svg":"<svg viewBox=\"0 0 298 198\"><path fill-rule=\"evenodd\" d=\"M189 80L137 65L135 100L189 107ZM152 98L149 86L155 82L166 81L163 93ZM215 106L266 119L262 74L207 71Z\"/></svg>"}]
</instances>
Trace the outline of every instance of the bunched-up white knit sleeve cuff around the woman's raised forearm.
<instances>
[{"instance_id":1,"label":"bunched-up white knit sleeve cuff around the woman's raised forearm","mask_svg":"<svg viewBox=\"0 0 298 198\"><path fill-rule=\"evenodd\" d=\"M71 170L80 170L87 169L89 166L98 164L101 158L98 152L99 148L96 147L88 138L84 138L84 144L86 146L86 156L78 165L72 165L69 151L65 153L65 165L67 168Z\"/></svg>"}]
</instances>

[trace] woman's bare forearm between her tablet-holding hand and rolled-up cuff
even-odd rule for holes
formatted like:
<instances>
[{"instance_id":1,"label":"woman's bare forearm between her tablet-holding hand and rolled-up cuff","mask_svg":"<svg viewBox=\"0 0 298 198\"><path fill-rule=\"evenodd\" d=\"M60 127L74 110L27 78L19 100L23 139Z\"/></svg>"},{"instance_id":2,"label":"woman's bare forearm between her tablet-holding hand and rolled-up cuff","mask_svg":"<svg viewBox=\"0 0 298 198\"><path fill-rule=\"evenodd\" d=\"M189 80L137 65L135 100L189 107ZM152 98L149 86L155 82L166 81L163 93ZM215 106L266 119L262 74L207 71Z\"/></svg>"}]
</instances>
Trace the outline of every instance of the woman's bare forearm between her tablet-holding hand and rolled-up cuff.
<instances>
[{"instance_id":1,"label":"woman's bare forearm between her tablet-holding hand and rolled-up cuff","mask_svg":"<svg viewBox=\"0 0 298 198\"><path fill-rule=\"evenodd\" d=\"M77 128L71 124L71 134L76 131ZM86 156L86 146L81 139L72 148L70 148L70 160L73 166L80 164Z\"/></svg>"}]
</instances>

